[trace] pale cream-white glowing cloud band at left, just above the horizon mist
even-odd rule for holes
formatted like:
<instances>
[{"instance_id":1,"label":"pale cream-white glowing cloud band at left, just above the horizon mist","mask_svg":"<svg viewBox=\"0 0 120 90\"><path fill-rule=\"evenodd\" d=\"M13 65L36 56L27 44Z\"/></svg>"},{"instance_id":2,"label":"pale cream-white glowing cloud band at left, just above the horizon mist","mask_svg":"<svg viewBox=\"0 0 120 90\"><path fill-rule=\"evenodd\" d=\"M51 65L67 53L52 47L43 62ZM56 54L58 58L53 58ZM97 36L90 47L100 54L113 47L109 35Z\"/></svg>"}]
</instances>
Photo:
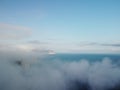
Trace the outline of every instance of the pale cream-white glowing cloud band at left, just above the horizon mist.
<instances>
[{"instance_id":1,"label":"pale cream-white glowing cloud band at left, just above the horizon mist","mask_svg":"<svg viewBox=\"0 0 120 90\"><path fill-rule=\"evenodd\" d=\"M46 47L42 43L33 43L33 42L27 42L27 43L16 43L16 44L10 44L10 43L1 43L0 44L0 52L23 52L23 53L34 53L34 54L48 54L51 49Z\"/></svg>"}]
</instances>

